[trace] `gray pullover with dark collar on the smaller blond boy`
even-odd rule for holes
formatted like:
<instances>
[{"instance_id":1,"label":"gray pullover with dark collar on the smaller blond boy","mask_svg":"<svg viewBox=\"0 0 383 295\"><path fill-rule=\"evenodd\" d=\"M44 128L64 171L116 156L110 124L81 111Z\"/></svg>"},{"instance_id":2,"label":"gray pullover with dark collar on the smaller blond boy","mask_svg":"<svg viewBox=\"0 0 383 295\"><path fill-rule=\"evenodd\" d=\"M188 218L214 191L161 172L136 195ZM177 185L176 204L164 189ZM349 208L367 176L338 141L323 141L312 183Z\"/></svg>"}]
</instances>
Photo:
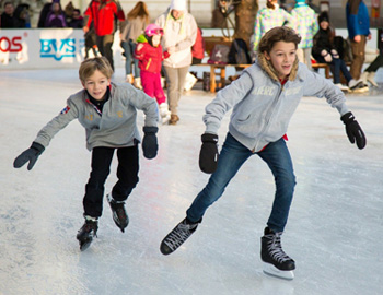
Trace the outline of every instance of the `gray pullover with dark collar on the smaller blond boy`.
<instances>
[{"instance_id":1,"label":"gray pullover with dark collar on the smaller blond boy","mask_svg":"<svg viewBox=\"0 0 383 295\"><path fill-rule=\"evenodd\" d=\"M78 119L85 128L88 150L132 146L135 140L141 139L136 125L137 109L142 109L146 115L144 126L156 126L159 114L155 99L128 83L111 83L111 96L102 114L90 102L86 91L82 90L68 98L67 107L38 132L35 142L48 146L58 131Z\"/></svg>"}]
</instances>

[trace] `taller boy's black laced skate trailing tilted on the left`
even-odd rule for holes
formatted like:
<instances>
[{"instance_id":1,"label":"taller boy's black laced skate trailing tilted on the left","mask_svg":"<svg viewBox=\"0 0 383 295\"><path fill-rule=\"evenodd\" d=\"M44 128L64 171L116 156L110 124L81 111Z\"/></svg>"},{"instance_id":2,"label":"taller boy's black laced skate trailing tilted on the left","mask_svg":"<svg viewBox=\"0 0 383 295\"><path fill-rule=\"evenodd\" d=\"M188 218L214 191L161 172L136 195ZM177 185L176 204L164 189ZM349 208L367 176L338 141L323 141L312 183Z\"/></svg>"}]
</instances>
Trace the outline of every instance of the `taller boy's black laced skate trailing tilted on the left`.
<instances>
[{"instance_id":1,"label":"taller boy's black laced skate trailing tilted on the left","mask_svg":"<svg viewBox=\"0 0 383 295\"><path fill-rule=\"evenodd\" d=\"M160 250L163 255L174 252L194 232L198 223L190 223L186 219L177 224L162 240Z\"/></svg>"}]
</instances>

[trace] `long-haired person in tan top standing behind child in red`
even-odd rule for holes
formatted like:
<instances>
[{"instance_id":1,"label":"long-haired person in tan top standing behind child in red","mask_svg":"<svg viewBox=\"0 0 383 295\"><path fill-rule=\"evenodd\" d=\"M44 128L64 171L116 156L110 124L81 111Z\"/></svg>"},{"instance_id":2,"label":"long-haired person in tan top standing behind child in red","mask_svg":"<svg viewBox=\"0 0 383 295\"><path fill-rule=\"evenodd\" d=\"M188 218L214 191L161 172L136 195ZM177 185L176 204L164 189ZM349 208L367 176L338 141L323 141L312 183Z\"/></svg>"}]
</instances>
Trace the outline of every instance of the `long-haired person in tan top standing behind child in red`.
<instances>
[{"instance_id":1,"label":"long-haired person in tan top standing behind child in red","mask_svg":"<svg viewBox=\"0 0 383 295\"><path fill-rule=\"evenodd\" d=\"M147 4L142 1L136 3L126 17L126 24L121 33L121 47L125 56L125 73L126 82L134 84L138 88L141 87L140 69L138 60L134 58L137 38L140 36L149 24L149 12ZM134 74L131 71L131 62L134 62Z\"/></svg>"}]
</instances>

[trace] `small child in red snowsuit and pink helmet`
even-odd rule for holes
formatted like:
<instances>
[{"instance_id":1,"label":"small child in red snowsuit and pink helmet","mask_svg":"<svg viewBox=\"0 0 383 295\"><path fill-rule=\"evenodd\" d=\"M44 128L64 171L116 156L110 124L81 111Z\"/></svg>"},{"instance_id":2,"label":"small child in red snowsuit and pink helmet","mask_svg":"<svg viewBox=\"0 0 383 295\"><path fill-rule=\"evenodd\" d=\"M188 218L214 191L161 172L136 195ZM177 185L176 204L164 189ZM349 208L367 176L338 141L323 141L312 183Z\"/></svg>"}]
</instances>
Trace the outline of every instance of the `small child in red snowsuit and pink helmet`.
<instances>
[{"instance_id":1,"label":"small child in red snowsuit and pink helmet","mask_svg":"<svg viewBox=\"0 0 383 295\"><path fill-rule=\"evenodd\" d=\"M165 58L170 57L167 51L162 52L161 37L163 30L156 24L149 24L144 34L137 39L135 58L139 60L142 88L150 97L155 97L159 104L162 122L165 123L171 118L171 113L166 104L166 97L161 86L161 66Z\"/></svg>"}]
</instances>

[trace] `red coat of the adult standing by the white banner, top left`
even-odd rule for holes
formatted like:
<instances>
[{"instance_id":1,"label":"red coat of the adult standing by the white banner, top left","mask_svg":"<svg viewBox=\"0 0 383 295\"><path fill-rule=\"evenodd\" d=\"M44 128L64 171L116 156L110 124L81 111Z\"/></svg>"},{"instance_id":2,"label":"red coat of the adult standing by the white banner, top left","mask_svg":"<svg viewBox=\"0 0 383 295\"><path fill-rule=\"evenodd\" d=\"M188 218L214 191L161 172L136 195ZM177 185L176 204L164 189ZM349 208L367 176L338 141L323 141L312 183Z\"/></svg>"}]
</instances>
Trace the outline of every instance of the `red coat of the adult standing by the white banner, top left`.
<instances>
[{"instance_id":1,"label":"red coat of the adult standing by the white banner, top left","mask_svg":"<svg viewBox=\"0 0 383 295\"><path fill-rule=\"evenodd\" d=\"M105 36L116 32L115 17L125 21L123 8L115 0L93 0L84 12L85 26L94 24L96 35Z\"/></svg>"}]
</instances>

